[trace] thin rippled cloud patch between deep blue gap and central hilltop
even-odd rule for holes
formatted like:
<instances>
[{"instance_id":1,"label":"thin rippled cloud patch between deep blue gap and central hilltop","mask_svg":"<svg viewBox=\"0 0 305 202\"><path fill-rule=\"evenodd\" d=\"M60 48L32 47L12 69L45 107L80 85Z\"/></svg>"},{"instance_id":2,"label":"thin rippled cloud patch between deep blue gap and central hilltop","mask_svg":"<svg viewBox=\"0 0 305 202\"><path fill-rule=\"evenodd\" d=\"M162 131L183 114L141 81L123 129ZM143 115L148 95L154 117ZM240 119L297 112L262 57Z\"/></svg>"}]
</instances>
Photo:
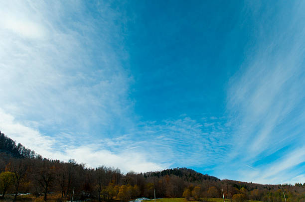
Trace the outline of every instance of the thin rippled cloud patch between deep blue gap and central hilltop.
<instances>
[{"instance_id":1,"label":"thin rippled cloud patch between deep blue gap and central hilltop","mask_svg":"<svg viewBox=\"0 0 305 202\"><path fill-rule=\"evenodd\" d=\"M178 119L142 122L134 133L137 140L143 140L138 150L147 151L152 162L201 167L204 171L223 158L219 154L226 150L226 132L221 118L196 120L182 115Z\"/></svg>"}]
</instances>

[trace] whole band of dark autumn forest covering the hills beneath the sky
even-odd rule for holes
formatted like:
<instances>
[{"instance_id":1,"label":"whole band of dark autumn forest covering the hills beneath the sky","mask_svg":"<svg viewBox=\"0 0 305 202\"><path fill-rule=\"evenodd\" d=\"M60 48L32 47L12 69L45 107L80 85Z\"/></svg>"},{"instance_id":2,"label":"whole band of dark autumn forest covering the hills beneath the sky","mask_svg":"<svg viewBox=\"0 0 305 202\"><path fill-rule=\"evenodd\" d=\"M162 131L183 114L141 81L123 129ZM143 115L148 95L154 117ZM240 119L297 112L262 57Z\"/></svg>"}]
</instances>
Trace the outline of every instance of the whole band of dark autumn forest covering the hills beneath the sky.
<instances>
[{"instance_id":1,"label":"whole band of dark autumn forest covering the hills beneath the sky","mask_svg":"<svg viewBox=\"0 0 305 202\"><path fill-rule=\"evenodd\" d=\"M102 164L102 162L101 162ZM305 202L305 184L261 185L220 180L187 168L123 174L118 168L88 168L71 159L46 159L0 132L0 192L2 200L18 201L22 194L49 196L57 201L96 200L127 202L139 197L207 201Z\"/></svg>"}]
</instances>

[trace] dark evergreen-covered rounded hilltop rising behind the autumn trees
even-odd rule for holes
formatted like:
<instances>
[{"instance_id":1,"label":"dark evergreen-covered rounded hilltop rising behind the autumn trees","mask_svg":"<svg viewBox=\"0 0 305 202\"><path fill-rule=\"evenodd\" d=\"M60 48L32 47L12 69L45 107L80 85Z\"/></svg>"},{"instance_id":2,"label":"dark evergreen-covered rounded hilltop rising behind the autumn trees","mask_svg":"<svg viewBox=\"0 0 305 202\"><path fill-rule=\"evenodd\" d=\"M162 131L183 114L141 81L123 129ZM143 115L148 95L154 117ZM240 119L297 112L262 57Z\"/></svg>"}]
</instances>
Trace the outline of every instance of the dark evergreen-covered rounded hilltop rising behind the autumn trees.
<instances>
[{"instance_id":1,"label":"dark evergreen-covered rounded hilltop rising behind the autumn trees","mask_svg":"<svg viewBox=\"0 0 305 202\"><path fill-rule=\"evenodd\" d=\"M144 177L163 177L166 175L174 175L178 176L179 178L183 179L187 182L203 182L205 180L210 181L220 181L218 178L214 176L209 176L207 174L203 175L202 173L198 173L192 169L188 168L173 168L173 169L166 169L162 171L156 171L156 172L147 172L144 174Z\"/></svg>"}]
</instances>

